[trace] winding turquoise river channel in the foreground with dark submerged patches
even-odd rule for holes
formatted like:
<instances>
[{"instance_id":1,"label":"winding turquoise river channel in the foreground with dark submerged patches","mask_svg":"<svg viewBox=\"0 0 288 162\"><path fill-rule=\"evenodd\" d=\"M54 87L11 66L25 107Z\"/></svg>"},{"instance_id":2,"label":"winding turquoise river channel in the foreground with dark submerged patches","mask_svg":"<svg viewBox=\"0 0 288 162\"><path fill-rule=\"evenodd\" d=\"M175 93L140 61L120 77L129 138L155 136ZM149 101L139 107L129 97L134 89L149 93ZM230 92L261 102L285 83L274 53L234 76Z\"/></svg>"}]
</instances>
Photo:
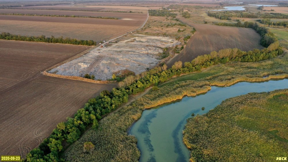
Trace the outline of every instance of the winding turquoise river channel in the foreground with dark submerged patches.
<instances>
[{"instance_id":1,"label":"winding turquoise river channel in the foreground with dark submerged patches","mask_svg":"<svg viewBox=\"0 0 288 162\"><path fill-rule=\"evenodd\" d=\"M268 92L288 88L288 79L266 82L240 82L230 87L215 87L205 94L184 97L182 100L143 111L132 125L141 152L139 161L189 161L190 152L182 142L182 131L191 114L204 114L227 98L250 92ZM205 107L204 110L201 110Z\"/></svg>"}]
</instances>

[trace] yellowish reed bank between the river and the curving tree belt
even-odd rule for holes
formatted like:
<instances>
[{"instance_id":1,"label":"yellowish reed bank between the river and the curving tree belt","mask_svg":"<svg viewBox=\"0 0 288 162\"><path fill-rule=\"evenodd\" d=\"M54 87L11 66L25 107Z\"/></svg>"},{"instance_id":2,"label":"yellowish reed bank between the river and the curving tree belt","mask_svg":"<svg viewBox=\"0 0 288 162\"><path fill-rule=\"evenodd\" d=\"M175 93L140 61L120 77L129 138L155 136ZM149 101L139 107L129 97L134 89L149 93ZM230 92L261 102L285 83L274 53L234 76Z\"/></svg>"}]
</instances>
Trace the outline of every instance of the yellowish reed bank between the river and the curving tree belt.
<instances>
[{"instance_id":1,"label":"yellowish reed bank between the river and the curving tree belt","mask_svg":"<svg viewBox=\"0 0 288 162\"><path fill-rule=\"evenodd\" d=\"M137 139L126 131L141 117L144 109L180 99L184 95L193 96L206 92L211 85L230 85L245 79L263 81L287 77L287 64L288 55L285 54L260 62L229 62L212 66L204 72L174 78L159 86L158 90L102 119L98 129L86 132L65 152L64 158L66 161L137 161L140 156ZM202 75L203 73L205 74ZM189 80L190 78L193 79ZM95 144L91 154L83 153L83 144L87 141Z\"/></svg>"}]
</instances>

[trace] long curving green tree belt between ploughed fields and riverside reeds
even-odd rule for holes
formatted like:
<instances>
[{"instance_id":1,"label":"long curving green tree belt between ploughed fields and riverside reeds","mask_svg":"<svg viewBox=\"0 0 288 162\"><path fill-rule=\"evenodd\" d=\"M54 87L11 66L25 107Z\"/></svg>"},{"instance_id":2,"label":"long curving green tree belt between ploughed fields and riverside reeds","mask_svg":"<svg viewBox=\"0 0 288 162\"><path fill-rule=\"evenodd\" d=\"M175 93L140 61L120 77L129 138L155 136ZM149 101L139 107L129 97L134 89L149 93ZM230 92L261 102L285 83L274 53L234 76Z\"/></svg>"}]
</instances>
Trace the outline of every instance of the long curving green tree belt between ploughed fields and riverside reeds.
<instances>
[{"instance_id":1,"label":"long curving green tree belt between ploughed fields and riverside reeds","mask_svg":"<svg viewBox=\"0 0 288 162\"><path fill-rule=\"evenodd\" d=\"M262 37L270 35L266 28L255 26L255 29ZM101 119L102 115L115 110L122 103L128 102L128 95L143 92L146 88L163 83L175 75L200 71L202 68L219 63L255 62L275 58L281 55L283 50L279 47L277 39L273 40L275 41L266 42L267 48L262 50L254 49L253 51L244 52L237 48L222 49L219 52L213 51L211 54L198 56L192 62L185 62L184 67L182 62L179 61L169 69L166 65L163 65L141 73L141 75L128 76L119 82L118 88L113 88L111 92L104 90L100 96L90 99L84 108L77 111L73 118L68 117L66 122L59 123L52 134L44 139L38 148L34 148L27 154L25 161L59 161L59 153L63 150L63 141L75 142L88 125L92 125L93 129L97 129L98 120Z\"/></svg>"}]
</instances>

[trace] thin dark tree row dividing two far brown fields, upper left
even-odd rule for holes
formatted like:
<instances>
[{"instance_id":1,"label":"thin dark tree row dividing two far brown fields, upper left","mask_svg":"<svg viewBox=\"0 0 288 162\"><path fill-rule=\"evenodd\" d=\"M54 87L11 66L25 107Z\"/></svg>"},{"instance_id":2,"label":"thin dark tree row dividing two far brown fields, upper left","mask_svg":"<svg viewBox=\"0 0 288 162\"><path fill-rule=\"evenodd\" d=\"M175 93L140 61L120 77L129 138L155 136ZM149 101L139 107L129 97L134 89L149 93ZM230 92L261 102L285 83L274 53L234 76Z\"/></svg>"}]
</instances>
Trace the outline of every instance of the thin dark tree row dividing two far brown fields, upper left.
<instances>
[{"instance_id":1,"label":"thin dark tree row dividing two far brown fields, upper left","mask_svg":"<svg viewBox=\"0 0 288 162\"><path fill-rule=\"evenodd\" d=\"M75 15L50 15L50 14L14 14L14 13L0 13L0 15L49 16L49 17L65 17L65 18L97 18L97 19L112 19L112 20L118 20L118 18L114 18L114 17L102 17L102 16L75 16Z\"/></svg>"}]
</instances>

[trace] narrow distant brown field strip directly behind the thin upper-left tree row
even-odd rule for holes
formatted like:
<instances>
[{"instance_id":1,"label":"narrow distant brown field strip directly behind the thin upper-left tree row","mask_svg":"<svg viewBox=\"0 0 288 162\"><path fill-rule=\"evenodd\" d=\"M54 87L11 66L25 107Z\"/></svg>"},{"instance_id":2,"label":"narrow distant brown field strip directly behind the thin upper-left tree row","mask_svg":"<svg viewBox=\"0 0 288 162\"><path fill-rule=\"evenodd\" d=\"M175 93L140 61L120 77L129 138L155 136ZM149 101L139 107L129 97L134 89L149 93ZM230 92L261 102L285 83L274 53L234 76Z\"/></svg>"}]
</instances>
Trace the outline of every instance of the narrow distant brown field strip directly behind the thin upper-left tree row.
<instances>
[{"instance_id":1,"label":"narrow distant brown field strip directly behind the thin upper-left tree row","mask_svg":"<svg viewBox=\"0 0 288 162\"><path fill-rule=\"evenodd\" d=\"M0 9L0 13L5 14L50 14L50 15L74 15L74 16L102 16L119 19L143 20L146 14L137 13L116 13L116 12L91 12L91 11L66 11L66 10L44 10L44 9Z\"/></svg>"}]
</instances>

